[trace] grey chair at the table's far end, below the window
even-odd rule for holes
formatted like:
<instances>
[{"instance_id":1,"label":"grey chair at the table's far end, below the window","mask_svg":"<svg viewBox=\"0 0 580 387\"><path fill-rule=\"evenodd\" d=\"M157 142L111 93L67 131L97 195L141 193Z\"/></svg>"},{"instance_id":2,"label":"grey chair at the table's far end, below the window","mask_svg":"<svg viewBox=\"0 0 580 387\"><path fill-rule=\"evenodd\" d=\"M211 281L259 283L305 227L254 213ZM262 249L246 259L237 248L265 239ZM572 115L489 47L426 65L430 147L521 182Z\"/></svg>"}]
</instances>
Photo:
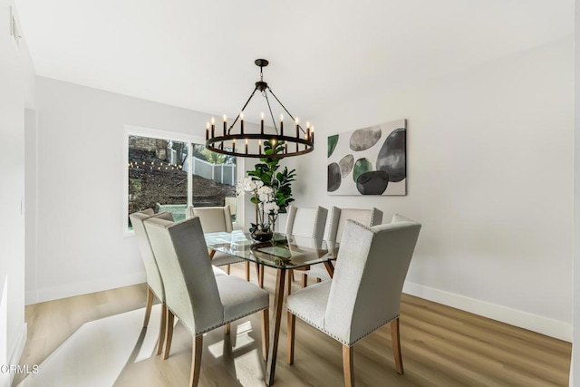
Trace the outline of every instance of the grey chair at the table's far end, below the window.
<instances>
[{"instance_id":1,"label":"grey chair at the table's far end, below the window","mask_svg":"<svg viewBox=\"0 0 580 387\"><path fill-rule=\"evenodd\" d=\"M201 221L203 232L232 232L232 216L229 206L225 207L193 207L186 208L186 218L198 217ZM214 266L226 266L226 273L229 274L229 266L240 262L246 263L246 280L250 280L250 263L237 256L230 256L216 250L209 251L211 264Z\"/></svg>"}]
</instances>

